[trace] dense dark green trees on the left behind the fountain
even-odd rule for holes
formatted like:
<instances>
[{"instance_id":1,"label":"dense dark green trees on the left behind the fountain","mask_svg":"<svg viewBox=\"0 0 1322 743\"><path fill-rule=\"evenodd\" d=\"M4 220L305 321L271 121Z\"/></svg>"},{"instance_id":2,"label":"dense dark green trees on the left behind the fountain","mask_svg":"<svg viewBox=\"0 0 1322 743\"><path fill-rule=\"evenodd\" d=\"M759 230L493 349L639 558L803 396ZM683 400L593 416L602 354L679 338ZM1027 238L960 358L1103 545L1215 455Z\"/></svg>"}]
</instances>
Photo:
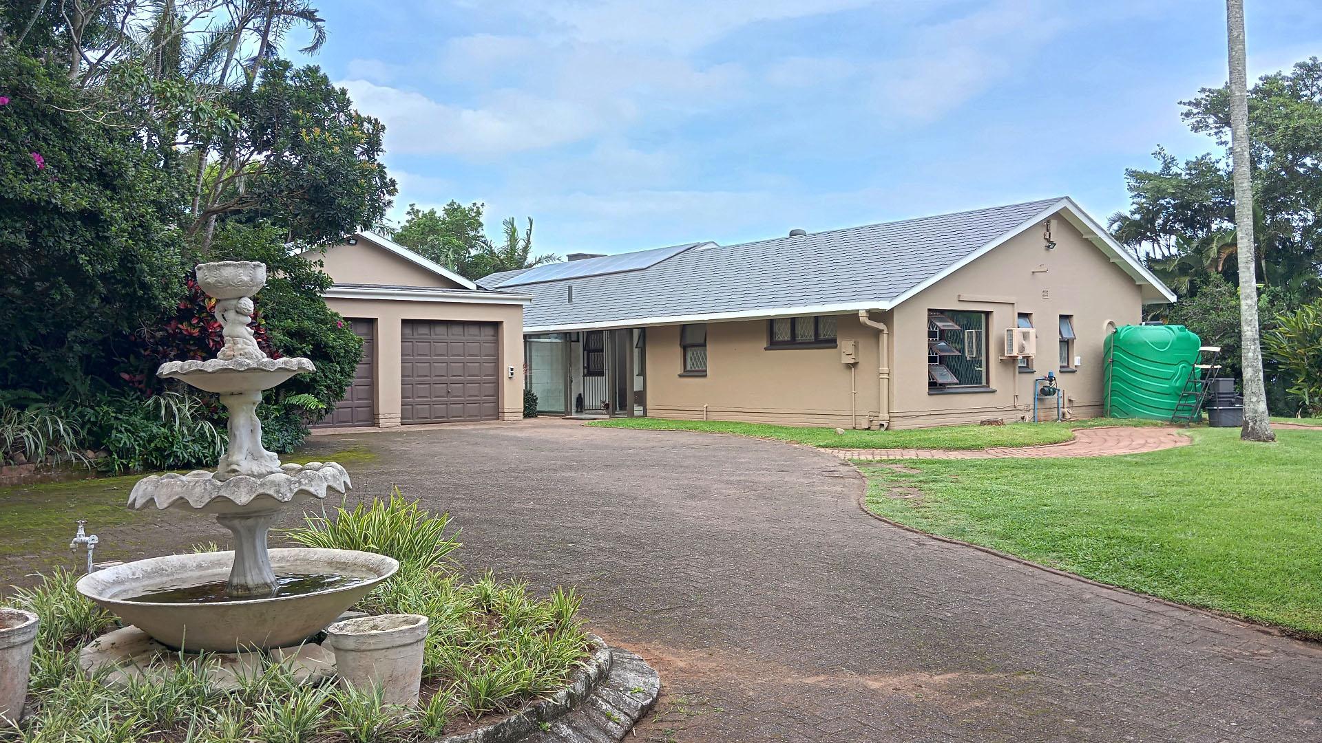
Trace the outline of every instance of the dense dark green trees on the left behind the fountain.
<instances>
[{"instance_id":1,"label":"dense dark green trees on the left behind the fountain","mask_svg":"<svg viewBox=\"0 0 1322 743\"><path fill-rule=\"evenodd\" d=\"M11 338L0 405L136 415L132 395L160 391L160 361L214 352L209 300L189 280L193 263L223 258L270 266L255 297L259 337L317 368L268 395L278 446L344 394L361 341L321 299L330 279L320 263L291 243L316 249L378 223L395 182L381 122L319 67L282 58L299 25L313 52L325 28L304 0L0 7L0 316Z\"/></svg>"}]
</instances>

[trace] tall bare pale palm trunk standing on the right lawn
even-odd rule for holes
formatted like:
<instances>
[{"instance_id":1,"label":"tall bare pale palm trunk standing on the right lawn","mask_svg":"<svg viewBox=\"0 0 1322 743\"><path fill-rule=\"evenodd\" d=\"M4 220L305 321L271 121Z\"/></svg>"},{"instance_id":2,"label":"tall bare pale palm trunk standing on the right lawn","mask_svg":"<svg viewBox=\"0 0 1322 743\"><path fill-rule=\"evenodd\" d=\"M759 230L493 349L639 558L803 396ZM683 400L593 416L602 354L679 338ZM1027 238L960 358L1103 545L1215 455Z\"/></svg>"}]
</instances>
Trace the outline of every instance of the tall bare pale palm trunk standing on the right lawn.
<instances>
[{"instance_id":1,"label":"tall bare pale palm trunk standing on the right lawn","mask_svg":"<svg viewBox=\"0 0 1322 743\"><path fill-rule=\"evenodd\" d=\"M1235 176L1235 229L1239 233L1240 331L1244 368L1245 442L1274 442L1263 385L1263 340L1257 324L1257 258L1253 247L1253 178L1248 157L1248 70L1244 61L1244 0L1225 0L1231 63L1231 156Z\"/></svg>"}]
</instances>

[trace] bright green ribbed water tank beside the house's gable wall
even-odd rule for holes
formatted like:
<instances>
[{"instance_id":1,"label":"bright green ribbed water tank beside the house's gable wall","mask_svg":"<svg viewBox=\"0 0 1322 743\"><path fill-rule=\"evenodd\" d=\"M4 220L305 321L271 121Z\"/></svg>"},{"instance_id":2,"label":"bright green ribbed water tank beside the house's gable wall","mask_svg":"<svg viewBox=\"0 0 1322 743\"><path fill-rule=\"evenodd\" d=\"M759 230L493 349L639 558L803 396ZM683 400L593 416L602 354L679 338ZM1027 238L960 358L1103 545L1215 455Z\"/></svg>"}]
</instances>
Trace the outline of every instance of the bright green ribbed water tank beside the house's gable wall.
<instances>
[{"instance_id":1,"label":"bright green ribbed water tank beside the house's gable wall","mask_svg":"<svg viewBox=\"0 0 1322 743\"><path fill-rule=\"evenodd\" d=\"M1107 337L1110 418L1170 420L1202 341L1183 325L1124 325Z\"/></svg>"}]
</instances>

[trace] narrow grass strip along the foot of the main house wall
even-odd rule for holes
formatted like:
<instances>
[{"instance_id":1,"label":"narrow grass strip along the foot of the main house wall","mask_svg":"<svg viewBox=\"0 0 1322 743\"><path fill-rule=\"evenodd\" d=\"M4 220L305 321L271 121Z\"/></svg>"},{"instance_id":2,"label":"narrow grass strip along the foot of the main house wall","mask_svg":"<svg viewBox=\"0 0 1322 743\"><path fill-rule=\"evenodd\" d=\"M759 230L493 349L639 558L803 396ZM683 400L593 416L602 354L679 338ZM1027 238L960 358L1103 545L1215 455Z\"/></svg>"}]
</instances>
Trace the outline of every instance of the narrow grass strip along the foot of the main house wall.
<instances>
[{"instance_id":1,"label":"narrow grass strip along the foot of the main house wall","mask_svg":"<svg viewBox=\"0 0 1322 743\"><path fill-rule=\"evenodd\" d=\"M1072 428L1097 426L1154 426L1157 420L1120 420L1089 418L1066 423L1007 423L1005 426L941 426L939 428L906 428L903 431L853 431L837 434L834 428L804 426L771 426L735 420L666 420L662 418L611 418L592 420L602 428L646 428L656 431L705 431L775 439L813 447L847 450L982 450L988 447L1027 447L1059 444L1073 438Z\"/></svg>"}]
</instances>

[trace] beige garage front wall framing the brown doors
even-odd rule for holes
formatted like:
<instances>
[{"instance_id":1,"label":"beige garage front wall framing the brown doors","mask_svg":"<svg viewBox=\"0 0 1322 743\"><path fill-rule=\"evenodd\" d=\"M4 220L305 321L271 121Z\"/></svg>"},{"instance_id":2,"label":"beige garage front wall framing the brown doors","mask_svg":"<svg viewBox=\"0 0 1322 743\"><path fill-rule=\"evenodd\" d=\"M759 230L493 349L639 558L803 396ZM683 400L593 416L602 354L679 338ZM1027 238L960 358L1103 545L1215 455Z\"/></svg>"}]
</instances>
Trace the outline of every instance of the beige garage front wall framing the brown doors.
<instances>
[{"instance_id":1,"label":"beige garage front wall framing the brown doors","mask_svg":"<svg viewBox=\"0 0 1322 743\"><path fill-rule=\"evenodd\" d=\"M375 253L374 253L375 255ZM327 299L344 317L375 320L377 426L399 426L401 333L403 320L468 320L497 323L500 332L500 418L524 416L524 308L520 304L465 304L402 299ZM509 368L514 375L509 375Z\"/></svg>"}]
</instances>

